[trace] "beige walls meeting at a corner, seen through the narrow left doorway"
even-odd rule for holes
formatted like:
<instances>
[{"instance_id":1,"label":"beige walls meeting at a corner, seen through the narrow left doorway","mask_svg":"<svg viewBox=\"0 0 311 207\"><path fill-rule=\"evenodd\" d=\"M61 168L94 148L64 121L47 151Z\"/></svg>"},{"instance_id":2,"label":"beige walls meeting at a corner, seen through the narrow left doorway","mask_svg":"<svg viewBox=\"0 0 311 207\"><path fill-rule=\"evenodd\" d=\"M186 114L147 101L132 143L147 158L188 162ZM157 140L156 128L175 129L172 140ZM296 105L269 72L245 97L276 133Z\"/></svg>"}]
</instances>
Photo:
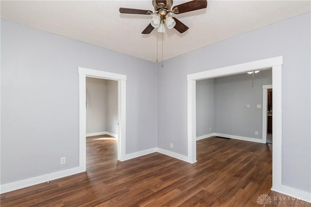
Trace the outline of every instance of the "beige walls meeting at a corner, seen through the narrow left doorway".
<instances>
[{"instance_id":1,"label":"beige walls meeting at a corner, seen through the narrow left doorway","mask_svg":"<svg viewBox=\"0 0 311 207\"><path fill-rule=\"evenodd\" d=\"M118 81L86 78L86 134L118 134Z\"/></svg>"}]
</instances>

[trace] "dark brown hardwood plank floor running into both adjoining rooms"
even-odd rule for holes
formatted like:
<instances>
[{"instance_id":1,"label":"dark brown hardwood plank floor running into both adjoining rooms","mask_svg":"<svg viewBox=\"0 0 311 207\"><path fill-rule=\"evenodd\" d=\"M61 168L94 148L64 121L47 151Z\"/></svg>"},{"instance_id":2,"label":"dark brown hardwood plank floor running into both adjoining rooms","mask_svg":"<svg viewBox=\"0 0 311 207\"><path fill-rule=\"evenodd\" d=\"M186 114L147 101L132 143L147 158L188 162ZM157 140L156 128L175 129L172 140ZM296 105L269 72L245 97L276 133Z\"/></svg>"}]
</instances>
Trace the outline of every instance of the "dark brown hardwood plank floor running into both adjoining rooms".
<instances>
[{"instance_id":1,"label":"dark brown hardwood plank floor running into both adjoining rooms","mask_svg":"<svg viewBox=\"0 0 311 207\"><path fill-rule=\"evenodd\" d=\"M3 193L1 207L311 207L270 190L270 144L202 139L197 162L190 164L159 153L120 162L116 140L86 142L85 173Z\"/></svg>"}]
</instances>

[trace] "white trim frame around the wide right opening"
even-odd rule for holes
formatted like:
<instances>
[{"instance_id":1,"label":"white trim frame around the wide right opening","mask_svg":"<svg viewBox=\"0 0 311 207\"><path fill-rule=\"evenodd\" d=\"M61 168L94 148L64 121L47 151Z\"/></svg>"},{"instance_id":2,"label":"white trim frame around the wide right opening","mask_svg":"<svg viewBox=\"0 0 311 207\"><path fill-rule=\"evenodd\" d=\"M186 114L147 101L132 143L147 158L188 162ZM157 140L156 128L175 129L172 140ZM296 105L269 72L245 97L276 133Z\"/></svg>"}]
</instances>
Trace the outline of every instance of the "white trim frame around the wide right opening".
<instances>
[{"instance_id":1,"label":"white trim frame around the wide right opening","mask_svg":"<svg viewBox=\"0 0 311 207\"><path fill-rule=\"evenodd\" d=\"M188 81L188 161L196 162L196 94L197 80L246 73L254 70L272 68L273 83L273 154L272 190L282 189L282 65L283 56L268 58L219 69L211 69L187 75Z\"/></svg>"}]
</instances>

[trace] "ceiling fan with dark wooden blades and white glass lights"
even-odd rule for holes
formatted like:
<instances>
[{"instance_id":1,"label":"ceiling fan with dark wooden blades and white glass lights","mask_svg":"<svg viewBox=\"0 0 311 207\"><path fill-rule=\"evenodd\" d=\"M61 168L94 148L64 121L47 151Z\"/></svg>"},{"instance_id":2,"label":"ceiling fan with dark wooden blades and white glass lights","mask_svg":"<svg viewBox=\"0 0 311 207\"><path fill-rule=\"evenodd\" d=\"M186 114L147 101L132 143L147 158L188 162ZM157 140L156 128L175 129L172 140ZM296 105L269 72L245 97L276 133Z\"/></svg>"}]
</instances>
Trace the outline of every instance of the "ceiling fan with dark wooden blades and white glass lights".
<instances>
[{"instance_id":1,"label":"ceiling fan with dark wooden blades and white glass lights","mask_svg":"<svg viewBox=\"0 0 311 207\"><path fill-rule=\"evenodd\" d=\"M186 3L176 5L171 10L173 5L173 0L152 0L155 11L142 10L142 9L130 9L130 8L121 8L119 9L121 14L138 14L138 15L154 15L151 23L142 31L141 34L150 34L155 28L157 32L164 33L165 26L168 29L174 28L179 33L186 32L189 27L183 24L175 17L171 17L170 13L181 14L185 12L190 12L198 9L204 9L207 7L207 0L192 0Z\"/></svg>"}]
</instances>

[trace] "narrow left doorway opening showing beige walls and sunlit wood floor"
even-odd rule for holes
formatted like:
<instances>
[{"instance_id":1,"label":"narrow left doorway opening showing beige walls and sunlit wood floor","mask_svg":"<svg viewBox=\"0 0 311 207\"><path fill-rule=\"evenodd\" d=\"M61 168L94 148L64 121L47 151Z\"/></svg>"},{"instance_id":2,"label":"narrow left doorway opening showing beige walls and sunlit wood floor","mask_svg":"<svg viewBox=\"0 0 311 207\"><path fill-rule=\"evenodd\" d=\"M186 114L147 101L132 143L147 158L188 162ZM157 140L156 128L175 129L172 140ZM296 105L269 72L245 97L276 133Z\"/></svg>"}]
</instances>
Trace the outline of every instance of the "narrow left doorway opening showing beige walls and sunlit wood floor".
<instances>
[{"instance_id":1,"label":"narrow left doorway opening showing beige walls and sunlit wood floor","mask_svg":"<svg viewBox=\"0 0 311 207\"><path fill-rule=\"evenodd\" d=\"M86 77L86 170L117 160L118 81ZM109 157L109 158L108 158ZM104 162L102 162L104 164Z\"/></svg>"}]
</instances>

